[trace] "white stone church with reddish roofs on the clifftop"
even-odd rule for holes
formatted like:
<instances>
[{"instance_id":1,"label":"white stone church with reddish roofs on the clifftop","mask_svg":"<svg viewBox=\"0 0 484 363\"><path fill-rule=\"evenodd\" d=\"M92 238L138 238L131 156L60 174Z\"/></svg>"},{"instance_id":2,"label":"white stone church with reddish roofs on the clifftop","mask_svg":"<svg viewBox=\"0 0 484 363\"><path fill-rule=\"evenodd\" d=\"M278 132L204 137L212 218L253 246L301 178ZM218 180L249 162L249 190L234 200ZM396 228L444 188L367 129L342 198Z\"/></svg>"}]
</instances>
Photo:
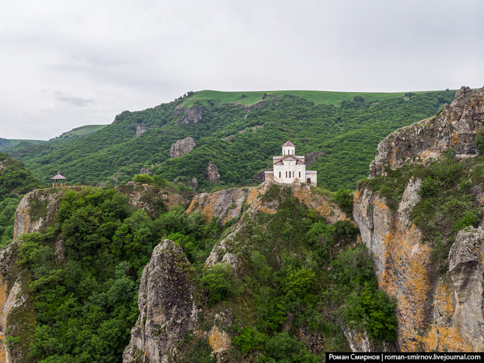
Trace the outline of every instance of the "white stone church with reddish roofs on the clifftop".
<instances>
[{"instance_id":1,"label":"white stone church with reddish roofs on the clifftop","mask_svg":"<svg viewBox=\"0 0 484 363\"><path fill-rule=\"evenodd\" d=\"M308 183L316 187L318 172L306 170L305 157L295 155L295 145L289 140L282 145L282 155L272 157L272 170L265 172L265 180L277 183Z\"/></svg>"}]
</instances>

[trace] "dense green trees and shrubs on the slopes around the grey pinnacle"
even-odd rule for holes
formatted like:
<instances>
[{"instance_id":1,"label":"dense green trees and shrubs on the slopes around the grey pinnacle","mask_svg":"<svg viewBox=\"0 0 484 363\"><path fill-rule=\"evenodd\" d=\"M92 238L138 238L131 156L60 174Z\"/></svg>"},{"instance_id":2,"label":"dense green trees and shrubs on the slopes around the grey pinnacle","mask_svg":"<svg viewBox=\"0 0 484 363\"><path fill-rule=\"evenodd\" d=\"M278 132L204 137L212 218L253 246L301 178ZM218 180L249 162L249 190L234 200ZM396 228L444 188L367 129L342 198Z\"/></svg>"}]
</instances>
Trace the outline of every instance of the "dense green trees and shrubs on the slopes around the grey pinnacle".
<instances>
[{"instance_id":1,"label":"dense green trees and shrubs on the slopes around the grey pinnacle","mask_svg":"<svg viewBox=\"0 0 484 363\"><path fill-rule=\"evenodd\" d=\"M366 248L354 247L353 224L327 224L278 185L269 196L279 203L277 212L246 216L226 246L241 262L234 274L227 264L204 267L216 241L233 228L223 228L219 219L205 222L194 211L187 217L181 207L160 208L150 218L109 188L67 192L53 227L20 237L17 268L28 273L35 323L11 332L13 356L120 361L139 314L143 267L166 237L184 249L198 276L201 331L210 329L216 312L231 311L229 361L320 361L324 351L349 349L341 322L377 341L394 340L393 302L379 292ZM22 345L20 334L32 344ZM305 334L323 346L314 350ZM201 337L187 337L179 351L211 361Z\"/></svg>"}]
</instances>

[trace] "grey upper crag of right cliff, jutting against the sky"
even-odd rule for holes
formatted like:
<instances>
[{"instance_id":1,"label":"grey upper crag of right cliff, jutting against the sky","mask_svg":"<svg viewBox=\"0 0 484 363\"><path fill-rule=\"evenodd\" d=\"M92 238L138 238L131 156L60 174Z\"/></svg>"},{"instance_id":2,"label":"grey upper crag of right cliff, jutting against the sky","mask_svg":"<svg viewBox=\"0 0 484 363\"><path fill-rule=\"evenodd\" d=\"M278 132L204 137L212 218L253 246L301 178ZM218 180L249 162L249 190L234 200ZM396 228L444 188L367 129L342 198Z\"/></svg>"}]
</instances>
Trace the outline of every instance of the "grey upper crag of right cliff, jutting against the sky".
<instances>
[{"instance_id":1,"label":"grey upper crag of right cliff, jutting against the sky","mask_svg":"<svg viewBox=\"0 0 484 363\"><path fill-rule=\"evenodd\" d=\"M383 139L370 165L370 177L384 174L385 167L396 170L407 163L425 163L450 147L455 147L456 157L475 156L474 137L483 124L484 87L462 87L440 114L398 129Z\"/></svg>"}]
</instances>

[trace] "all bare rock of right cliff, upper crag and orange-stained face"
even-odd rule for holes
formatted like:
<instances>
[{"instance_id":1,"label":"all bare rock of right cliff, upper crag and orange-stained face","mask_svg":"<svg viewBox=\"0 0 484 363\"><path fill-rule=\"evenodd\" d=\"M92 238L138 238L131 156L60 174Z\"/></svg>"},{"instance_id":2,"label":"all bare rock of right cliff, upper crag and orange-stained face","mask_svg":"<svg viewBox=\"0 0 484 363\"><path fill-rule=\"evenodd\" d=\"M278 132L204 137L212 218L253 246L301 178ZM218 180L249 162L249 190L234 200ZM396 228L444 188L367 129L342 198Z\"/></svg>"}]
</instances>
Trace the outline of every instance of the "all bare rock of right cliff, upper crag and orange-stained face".
<instances>
[{"instance_id":1,"label":"all bare rock of right cliff, upper crag and orange-stained face","mask_svg":"<svg viewBox=\"0 0 484 363\"><path fill-rule=\"evenodd\" d=\"M386 168L396 170L406 164L430 166L451 147L458 159L476 156L474 138L484 124L483 105L484 88L462 87L440 114L384 139L370 165L370 177L385 176ZM480 195L481 187L472 191ZM460 230L447 258L448 268L438 274L432 261L434 247L410 218L422 198L421 188L422 180L410 177L397 208L368 184L362 184L353 200L353 217L362 243L373 254L379 287L397 301L399 348L481 351L484 234L480 227Z\"/></svg>"}]
</instances>

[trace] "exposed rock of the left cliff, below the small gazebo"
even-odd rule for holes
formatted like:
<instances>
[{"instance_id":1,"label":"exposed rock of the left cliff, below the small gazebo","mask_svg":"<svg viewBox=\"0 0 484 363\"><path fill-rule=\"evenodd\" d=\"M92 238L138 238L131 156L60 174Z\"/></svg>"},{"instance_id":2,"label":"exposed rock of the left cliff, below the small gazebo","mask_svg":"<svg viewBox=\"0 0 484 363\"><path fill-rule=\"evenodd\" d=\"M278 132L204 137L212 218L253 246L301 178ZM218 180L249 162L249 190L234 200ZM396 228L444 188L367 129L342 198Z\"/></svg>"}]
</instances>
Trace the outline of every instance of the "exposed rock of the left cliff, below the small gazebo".
<instances>
[{"instance_id":1,"label":"exposed rock of the left cliff, below the small gazebo","mask_svg":"<svg viewBox=\"0 0 484 363\"><path fill-rule=\"evenodd\" d=\"M145 209L148 214L158 213L159 208L186 205L188 200L156 187L124 186L117 188L129 198L135 209ZM29 274L19 269L17 256L21 239L26 233L45 232L56 222L62 199L68 191L81 192L83 187L47 188L34 190L19 203L14 224L14 240L0 249L0 339L21 337L15 344L0 346L0 363L28 360L29 345L34 342L35 313L29 289ZM56 261L65 261L65 243L59 237L52 241Z\"/></svg>"}]
</instances>

